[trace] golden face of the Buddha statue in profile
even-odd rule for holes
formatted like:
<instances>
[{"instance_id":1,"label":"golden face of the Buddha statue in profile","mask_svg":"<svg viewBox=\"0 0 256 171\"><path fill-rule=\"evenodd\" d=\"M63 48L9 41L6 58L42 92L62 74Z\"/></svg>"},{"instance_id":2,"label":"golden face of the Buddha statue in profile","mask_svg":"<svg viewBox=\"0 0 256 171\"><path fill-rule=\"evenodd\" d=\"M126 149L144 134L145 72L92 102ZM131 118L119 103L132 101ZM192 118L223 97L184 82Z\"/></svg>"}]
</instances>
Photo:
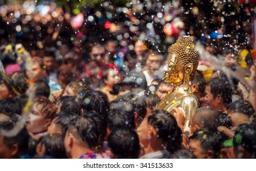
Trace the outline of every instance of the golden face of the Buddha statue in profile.
<instances>
[{"instance_id":1,"label":"golden face of the Buddha statue in profile","mask_svg":"<svg viewBox=\"0 0 256 171\"><path fill-rule=\"evenodd\" d=\"M164 79L166 82L178 84L183 80L183 73L180 64L180 58L176 54L170 53L168 55L167 63L164 67Z\"/></svg>"}]
</instances>

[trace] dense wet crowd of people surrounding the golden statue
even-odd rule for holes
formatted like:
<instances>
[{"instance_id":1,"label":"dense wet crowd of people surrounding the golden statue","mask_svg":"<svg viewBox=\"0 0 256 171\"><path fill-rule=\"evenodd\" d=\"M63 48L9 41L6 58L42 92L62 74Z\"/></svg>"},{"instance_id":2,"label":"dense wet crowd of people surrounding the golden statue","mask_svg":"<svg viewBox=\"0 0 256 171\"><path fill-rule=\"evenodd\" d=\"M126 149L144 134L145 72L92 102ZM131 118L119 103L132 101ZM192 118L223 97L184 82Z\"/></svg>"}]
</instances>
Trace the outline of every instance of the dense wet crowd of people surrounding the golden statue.
<instances>
[{"instance_id":1,"label":"dense wet crowd of people surrounding the golden statue","mask_svg":"<svg viewBox=\"0 0 256 171\"><path fill-rule=\"evenodd\" d=\"M27 5L0 7L0 158L256 158L254 4ZM203 47L186 130L155 110L183 35Z\"/></svg>"}]
</instances>

